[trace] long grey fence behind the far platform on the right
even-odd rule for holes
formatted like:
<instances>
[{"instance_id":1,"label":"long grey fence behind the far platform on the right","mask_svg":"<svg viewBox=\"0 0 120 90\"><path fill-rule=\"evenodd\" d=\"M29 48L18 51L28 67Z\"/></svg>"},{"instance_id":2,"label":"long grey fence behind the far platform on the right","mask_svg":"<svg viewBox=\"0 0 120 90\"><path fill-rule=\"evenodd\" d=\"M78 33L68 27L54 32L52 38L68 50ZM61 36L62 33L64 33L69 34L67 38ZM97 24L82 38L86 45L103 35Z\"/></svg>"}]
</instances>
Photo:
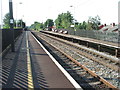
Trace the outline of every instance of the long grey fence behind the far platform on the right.
<instances>
[{"instance_id":1,"label":"long grey fence behind the far platform on the right","mask_svg":"<svg viewBox=\"0 0 120 90\"><path fill-rule=\"evenodd\" d=\"M76 30L67 29L68 34L77 35L81 37L93 38L103 41L109 41L113 43L118 43L120 38L120 32L106 32L106 31L98 31L98 30Z\"/></svg>"}]
</instances>

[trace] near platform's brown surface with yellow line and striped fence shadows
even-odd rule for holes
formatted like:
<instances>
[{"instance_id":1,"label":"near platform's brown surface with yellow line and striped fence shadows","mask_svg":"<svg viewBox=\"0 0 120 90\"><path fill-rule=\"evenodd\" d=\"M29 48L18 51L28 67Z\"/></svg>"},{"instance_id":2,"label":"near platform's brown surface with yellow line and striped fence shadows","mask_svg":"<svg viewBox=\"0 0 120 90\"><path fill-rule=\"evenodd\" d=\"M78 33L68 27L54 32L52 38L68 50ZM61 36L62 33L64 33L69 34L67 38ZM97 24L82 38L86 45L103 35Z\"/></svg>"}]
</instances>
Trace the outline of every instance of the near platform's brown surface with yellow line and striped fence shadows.
<instances>
[{"instance_id":1,"label":"near platform's brown surface with yellow line and striped fence shadows","mask_svg":"<svg viewBox=\"0 0 120 90\"><path fill-rule=\"evenodd\" d=\"M2 88L76 89L30 31L22 33L15 52L9 50L2 60Z\"/></svg>"}]
</instances>

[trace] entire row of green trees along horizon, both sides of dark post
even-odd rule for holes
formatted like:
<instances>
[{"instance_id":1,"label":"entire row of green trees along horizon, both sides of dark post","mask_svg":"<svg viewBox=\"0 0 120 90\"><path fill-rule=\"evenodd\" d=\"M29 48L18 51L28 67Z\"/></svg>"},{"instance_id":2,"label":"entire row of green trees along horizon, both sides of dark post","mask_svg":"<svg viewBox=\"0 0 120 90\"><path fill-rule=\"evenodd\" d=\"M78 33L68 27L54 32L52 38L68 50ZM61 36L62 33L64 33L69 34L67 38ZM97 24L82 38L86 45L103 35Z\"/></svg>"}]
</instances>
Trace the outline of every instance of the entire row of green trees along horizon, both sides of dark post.
<instances>
[{"instance_id":1,"label":"entire row of green trees along horizon, both sides of dark post","mask_svg":"<svg viewBox=\"0 0 120 90\"><path fill-rule=\"evenodd\" d=\"M9 20L10 16L9 13L7 13L3 19L3 28L10 28ZM73 15L67 11L66 13L59 14L55 21L53 21L53 19L47 19L42 23L35 21L30 28L34 30L41 30L45 28L51 29L53 26L55 26L58 29L67 29L73 28L71 25L74 25L74 29L98 30L100 24L101 19L98 15L95 17L89 17L87 21L79 23L74 19ZM24 28L25 26L25 22L23 22L22 19L17 20L17 22L14 20L14 28Z\"/></svg>"}]
</instances>

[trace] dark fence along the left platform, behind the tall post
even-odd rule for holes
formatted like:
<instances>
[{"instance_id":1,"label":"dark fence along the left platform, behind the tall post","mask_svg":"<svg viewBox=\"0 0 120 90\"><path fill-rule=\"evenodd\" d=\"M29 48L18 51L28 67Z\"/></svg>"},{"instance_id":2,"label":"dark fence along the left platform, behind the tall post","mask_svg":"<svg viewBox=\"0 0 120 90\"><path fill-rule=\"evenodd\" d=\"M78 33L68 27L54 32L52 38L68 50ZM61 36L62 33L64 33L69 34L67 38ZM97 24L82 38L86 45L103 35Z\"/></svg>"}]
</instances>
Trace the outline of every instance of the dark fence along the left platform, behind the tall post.
<instances>
[{"instance_id":1,"label":"dark fence along the left platform, behind the tall post","mask_svg":"<svg viewBox=\"0 0 120 90\"><path fill-rule=\"evenodd\" d=\"M12 31L9 29L2 29L0 30L0 33L2 33L2 51L4 51L11 43L12 40ZM22 29L14 29L14 39L16 39L20 34L22 33Z\"/></svg>"}]
</instances>

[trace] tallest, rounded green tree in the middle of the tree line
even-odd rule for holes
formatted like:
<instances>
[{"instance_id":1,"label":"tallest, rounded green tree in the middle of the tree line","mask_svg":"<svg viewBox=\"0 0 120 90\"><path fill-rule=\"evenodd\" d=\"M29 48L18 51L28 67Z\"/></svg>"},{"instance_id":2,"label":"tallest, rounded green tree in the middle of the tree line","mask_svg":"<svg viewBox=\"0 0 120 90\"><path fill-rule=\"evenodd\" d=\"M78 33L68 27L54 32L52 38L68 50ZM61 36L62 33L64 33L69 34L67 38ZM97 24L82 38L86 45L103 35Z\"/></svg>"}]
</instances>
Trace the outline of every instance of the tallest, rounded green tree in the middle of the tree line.
<instances>
[{"instance_id":1,"label":"tallest, rounded green tree in the middle of the tree line","mask_svg":"<svg viewBox=\"0 0 120 90\"><path fill-rule=\"evenodd\" d=\"M69 11L67 13L59 14L55 20L56 28L69 28L73 23L73 17Z\"/></svg>"}]
</instances>

